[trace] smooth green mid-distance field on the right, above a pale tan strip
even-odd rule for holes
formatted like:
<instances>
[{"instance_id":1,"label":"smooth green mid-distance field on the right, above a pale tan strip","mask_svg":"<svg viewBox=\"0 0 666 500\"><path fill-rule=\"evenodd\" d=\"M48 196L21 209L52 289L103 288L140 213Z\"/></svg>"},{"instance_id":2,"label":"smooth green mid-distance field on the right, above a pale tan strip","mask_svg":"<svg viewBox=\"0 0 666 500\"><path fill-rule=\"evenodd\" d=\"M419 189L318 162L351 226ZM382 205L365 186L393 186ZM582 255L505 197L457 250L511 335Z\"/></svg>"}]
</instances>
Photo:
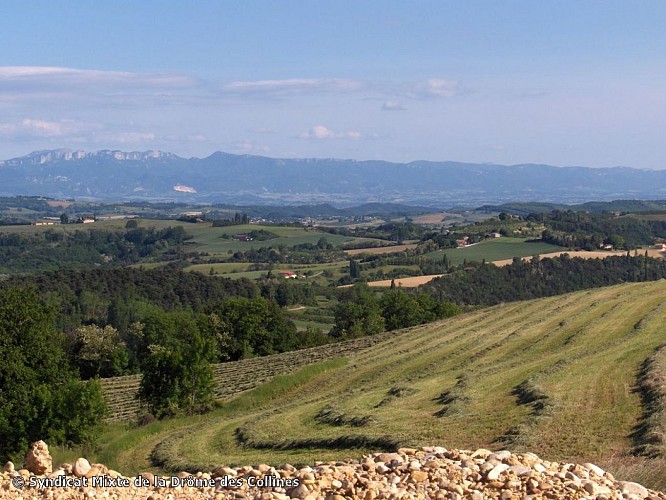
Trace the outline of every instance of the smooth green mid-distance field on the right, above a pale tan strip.
<instances>
[{"instance_id":1,"label":"smooth green mid-distance field on the right, above a pale tan strip","mask_svg":"<svg viewBox=\"0 0 666 500\"><path fill-rule=\"evenodd\" d=\"M446 255L451 264L458 265L465 261L481 262L483 259L486 259L486 262L492 262L495 260L530 257L532 255L560 252L563 250L566 250L566 248L551 245L550 243L529 243L526 238L494 238L463 248L437 250L436 252L425 254L424 257L441 260Z\"/></svg>"}]
</instances>

